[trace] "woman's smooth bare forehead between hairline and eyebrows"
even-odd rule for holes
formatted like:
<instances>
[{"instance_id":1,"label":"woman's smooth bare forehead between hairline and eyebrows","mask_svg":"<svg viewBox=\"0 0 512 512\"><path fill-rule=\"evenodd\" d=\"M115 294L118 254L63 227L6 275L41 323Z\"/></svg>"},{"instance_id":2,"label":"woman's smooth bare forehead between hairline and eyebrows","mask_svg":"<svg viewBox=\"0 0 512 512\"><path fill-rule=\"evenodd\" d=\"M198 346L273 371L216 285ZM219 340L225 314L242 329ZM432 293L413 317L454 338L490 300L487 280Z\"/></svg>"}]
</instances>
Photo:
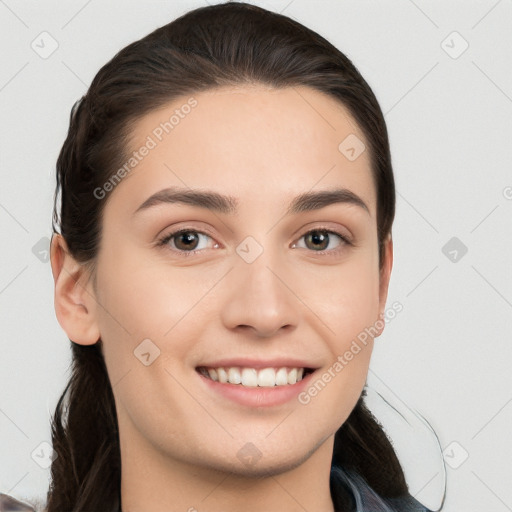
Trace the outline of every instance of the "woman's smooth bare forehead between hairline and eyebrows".
<instances>
[{"instance_id":1,"label":"woman's smooth bare forehead between hairline and eyebrows","mask_svg":"<svg viewBox=\"0 0 512 512\"><path fill-rule=\"evenodd\" d=\"M363 132L341 102L309 87L222 87L177 98L134 124L128 152L144 147L113 194L131 206L169 186L283 204L283 194L345 187L374 215Z\"/></svg>"}]
</instances>

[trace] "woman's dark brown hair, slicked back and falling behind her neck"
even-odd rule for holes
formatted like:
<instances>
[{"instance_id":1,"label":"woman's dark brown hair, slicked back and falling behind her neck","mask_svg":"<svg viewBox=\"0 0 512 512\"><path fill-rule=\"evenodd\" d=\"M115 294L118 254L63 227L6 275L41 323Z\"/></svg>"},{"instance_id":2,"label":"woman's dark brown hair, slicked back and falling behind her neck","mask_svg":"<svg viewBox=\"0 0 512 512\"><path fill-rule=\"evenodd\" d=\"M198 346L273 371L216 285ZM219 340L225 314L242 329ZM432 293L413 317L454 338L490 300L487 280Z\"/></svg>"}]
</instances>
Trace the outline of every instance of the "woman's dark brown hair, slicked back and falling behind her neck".
<instances>
[{"instance_id":1,"label":"woman's dark brown hair, slicked back and falling behind her neck","mask_svg":"<svg viewBox=\"0 0 512 512\"><path fill-rule=\"evenodd\" d=\"M73 106L57 160L52 224L54 232L60 226L72 256L94 269L106 199L98 200L93 191L126 161L135 120L183 95L254 83L309 86L339 100L356 120L371 158L382 267L395 188L386 124L372 90L352 62L317 33L239 2L195 9L128 45ZM57 458L48 512L121 510L118 424L101 343L71 343L72 375L52 418ZM363 396L364 391L336 433L333 462L357 471L382 497L407 494L392 445Z\"/></svg>"}]
</instances>

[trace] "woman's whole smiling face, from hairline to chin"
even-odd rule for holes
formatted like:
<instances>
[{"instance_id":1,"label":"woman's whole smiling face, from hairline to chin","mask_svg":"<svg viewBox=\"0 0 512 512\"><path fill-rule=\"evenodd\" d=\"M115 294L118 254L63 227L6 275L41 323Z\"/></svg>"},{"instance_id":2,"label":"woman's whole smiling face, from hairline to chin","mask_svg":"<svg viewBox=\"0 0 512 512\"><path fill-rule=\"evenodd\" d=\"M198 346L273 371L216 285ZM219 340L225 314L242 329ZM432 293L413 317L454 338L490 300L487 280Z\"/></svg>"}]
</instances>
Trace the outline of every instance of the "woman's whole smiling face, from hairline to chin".
<instances>
[{"instance_id":1,"label":"woman's whole smiling face, from hairline to chin","mask_svg":"<svg viewBox=\"0 0 512 512\"><path fill-rule=\"evenodd\" d=\"M130 152L150 149L104 210L95 322L121 445L279 472L332 443L366 380L373 340L354 340L387 289L370 157L340 151L364 136L309 88L189 99L134 125Z\"/></svg>"}]
</instances>

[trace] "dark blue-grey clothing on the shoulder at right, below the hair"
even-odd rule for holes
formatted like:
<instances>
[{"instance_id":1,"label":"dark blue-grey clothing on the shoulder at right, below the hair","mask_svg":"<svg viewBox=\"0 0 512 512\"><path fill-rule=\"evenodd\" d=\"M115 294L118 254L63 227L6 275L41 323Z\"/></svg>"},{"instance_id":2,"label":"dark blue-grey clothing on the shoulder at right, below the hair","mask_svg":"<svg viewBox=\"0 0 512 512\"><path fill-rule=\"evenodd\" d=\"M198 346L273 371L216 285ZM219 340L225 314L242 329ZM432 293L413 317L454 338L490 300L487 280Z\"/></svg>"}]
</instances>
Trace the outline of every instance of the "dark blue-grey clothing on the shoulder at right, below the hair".
<instances>
[{"instance_id":1,"label":"dark blue-grey clothing on the shoulder at right, below the hair","mask_svg":"<svg viewBox=\"0 0 512 512\"><path fill-rule=\"evenodd\" d=\"M331 468L331 488L335 506L336 493L341 489L348 491L352 498L351 512L431 512L410 494L398 498L379 496L364 478L340 466Z\"/></svg>"}]
</instances>

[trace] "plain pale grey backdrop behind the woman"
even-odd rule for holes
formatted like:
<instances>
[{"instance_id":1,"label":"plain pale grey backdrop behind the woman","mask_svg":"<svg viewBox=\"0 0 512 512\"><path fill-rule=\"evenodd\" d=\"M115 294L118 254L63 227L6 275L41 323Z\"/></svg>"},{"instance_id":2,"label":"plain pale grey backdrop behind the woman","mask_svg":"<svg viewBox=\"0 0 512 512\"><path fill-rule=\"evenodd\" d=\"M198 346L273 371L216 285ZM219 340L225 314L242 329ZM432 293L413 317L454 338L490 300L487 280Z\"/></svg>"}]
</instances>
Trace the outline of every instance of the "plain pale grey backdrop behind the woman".
<instances>
[{"instance_id":1,"label":"plain pale grey backdrop behind the woman","mask_svg":"<svg viewBox=\"0 0 512 512\"><path fill-rule=\"evenodd\" d=\"M119 49L205 3L0 0L0 492L44 498L68 378L47 246L70 108ZM318 31L374 89L398 192L388 304L403 311L370 380L437 432L443 510L512 510L512 1L252 3ZM440 476L412 493L428 501Z\"/></svg>"}]
</instances>

